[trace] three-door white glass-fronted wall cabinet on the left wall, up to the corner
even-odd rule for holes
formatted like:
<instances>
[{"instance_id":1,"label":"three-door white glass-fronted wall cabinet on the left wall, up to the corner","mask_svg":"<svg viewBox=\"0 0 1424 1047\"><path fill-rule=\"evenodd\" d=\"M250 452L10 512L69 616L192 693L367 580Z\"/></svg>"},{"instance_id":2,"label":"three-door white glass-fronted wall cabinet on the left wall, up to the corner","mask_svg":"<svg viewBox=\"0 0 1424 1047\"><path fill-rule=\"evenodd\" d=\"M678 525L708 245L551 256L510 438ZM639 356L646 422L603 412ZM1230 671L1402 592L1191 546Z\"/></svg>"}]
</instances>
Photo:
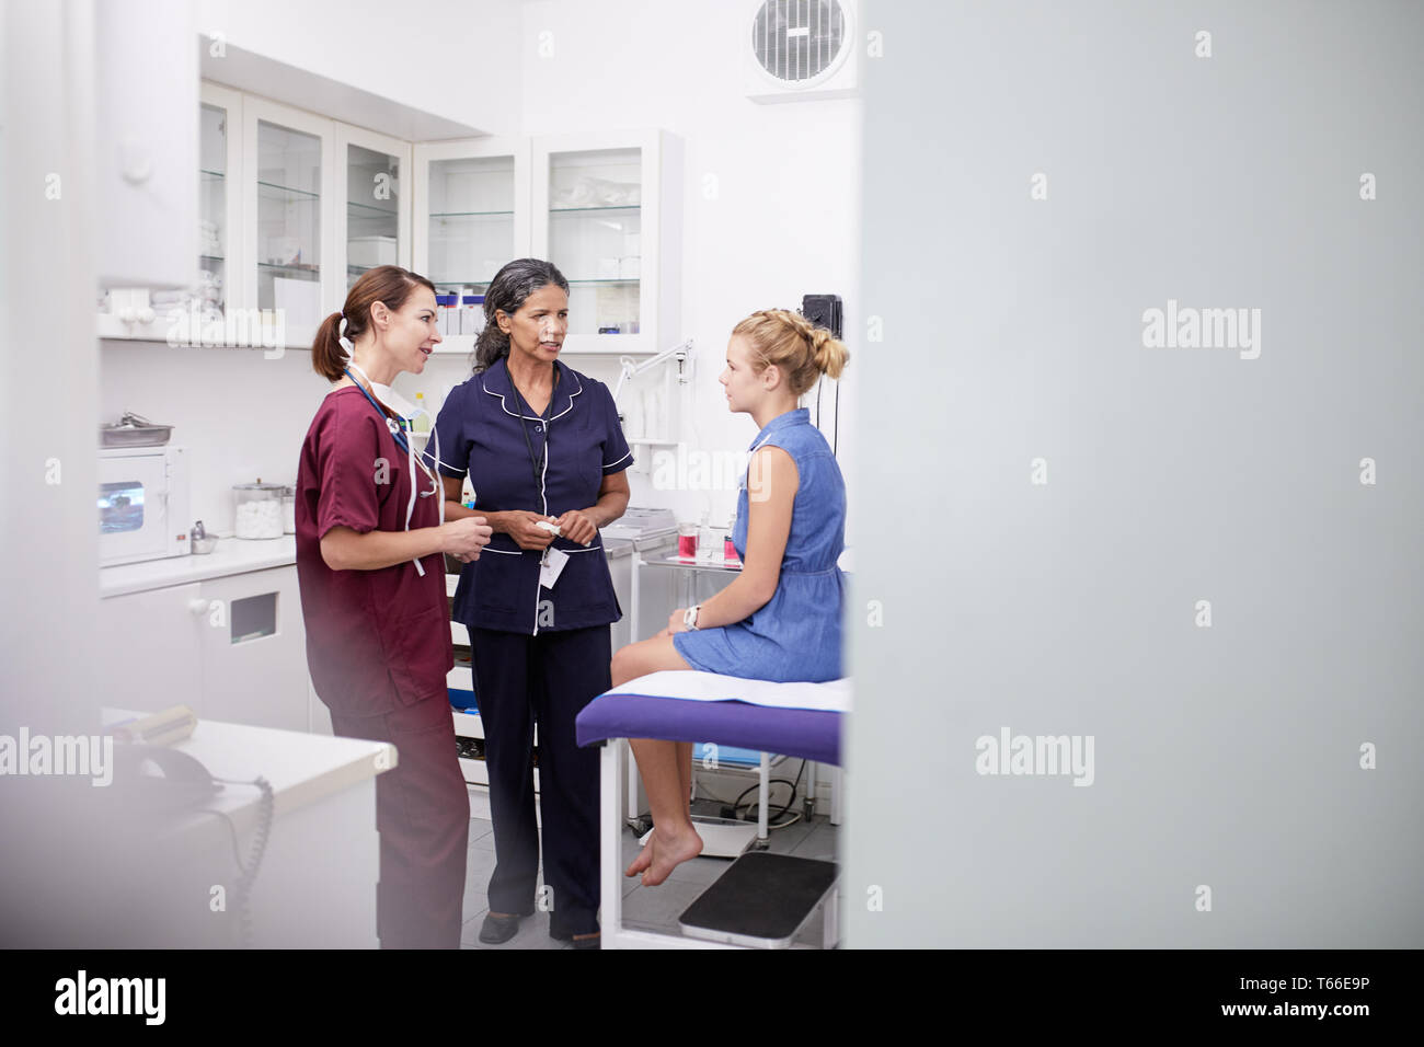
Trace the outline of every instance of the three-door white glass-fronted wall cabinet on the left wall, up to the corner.
<instances>
[{"instance_id":1,"label":"three-door white glass-fronted wall cabinet on the left wall, up to the corner","mask_svg":"<svg viewBox=\"0 0 1424 1047\"><path fill-rule=\"evenodd\" d=\"M201 87L191 283L181 301L142 289L132 308L120 291L97 333L306 349L362 272L410 268L412 145L221 84Z\"/></svg>"}]
</instances>

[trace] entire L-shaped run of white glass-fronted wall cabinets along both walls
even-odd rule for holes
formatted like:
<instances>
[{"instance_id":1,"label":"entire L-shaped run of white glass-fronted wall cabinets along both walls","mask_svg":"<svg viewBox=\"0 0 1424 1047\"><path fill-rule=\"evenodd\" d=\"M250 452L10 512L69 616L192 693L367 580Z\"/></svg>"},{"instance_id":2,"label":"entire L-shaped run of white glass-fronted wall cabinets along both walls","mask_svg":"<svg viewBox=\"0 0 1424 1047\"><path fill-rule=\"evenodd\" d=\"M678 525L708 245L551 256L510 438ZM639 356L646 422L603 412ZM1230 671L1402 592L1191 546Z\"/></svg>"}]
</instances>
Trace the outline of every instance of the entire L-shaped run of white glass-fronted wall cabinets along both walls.
<instances>
[{"instance_id":1,"label":"entire L-shaped run of white glass-fronted wall cabinets along both walls","mask_svg":"<svg viewBox=\"0 0 1424 1047\"><path fill-rule=\"evenodd\" d=\"M191 288L181 302L111 291L100 338L305 349L375 265L483 295L525 256L570 282L565 352L681 338L682 142L666 131L413 145L204 83L198 152ZM437 352L468 355L474 338Z\"/></svg>"}]
</instances>

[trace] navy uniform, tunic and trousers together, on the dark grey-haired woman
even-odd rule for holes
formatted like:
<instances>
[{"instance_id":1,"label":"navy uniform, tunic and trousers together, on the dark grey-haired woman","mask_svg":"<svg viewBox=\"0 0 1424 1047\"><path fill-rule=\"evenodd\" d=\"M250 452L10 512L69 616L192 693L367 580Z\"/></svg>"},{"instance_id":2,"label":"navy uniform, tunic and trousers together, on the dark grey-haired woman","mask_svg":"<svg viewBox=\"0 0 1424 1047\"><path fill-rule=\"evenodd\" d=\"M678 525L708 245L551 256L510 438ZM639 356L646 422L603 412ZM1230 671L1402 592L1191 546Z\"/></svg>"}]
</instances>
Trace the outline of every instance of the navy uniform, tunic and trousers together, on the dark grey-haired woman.
<instances>
[{"instance_id":1,"label":"navy uniform, tunic and trousers together, on the dark grey-haired woman","mask_svg":"<svg viewBox=\"0 0 1424 1047\"><path fill-rule=\"evenodd\" d=\"M446 397L436 420L441 472L468 472L477 511L558 517L590 509L602 479L632 464L608 387L558 360L554 369L543 415L518 395L503 358ZM496 533L460 573L454 617L470 631L486 736L496 849L490 910L534 912L537 724L550 930L568 936L598 929L598 755L578 748L574 718L612 685L608 627L622 608L601 537L588 547L555 537L551 547L568 553L568 563L554 587L543 588L543 554Z\"/></svg>"}]
</instances>

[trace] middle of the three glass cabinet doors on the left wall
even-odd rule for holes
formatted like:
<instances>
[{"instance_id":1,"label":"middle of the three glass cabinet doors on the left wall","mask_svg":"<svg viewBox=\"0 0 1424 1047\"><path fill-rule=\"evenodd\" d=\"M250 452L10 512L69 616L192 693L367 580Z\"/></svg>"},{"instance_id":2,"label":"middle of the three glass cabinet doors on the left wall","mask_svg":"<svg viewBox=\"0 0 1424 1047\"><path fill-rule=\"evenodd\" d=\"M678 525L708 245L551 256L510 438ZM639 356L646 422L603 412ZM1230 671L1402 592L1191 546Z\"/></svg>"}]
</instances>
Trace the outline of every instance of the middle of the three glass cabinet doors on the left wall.
<instances>
[{"instance_id":1,"label":"middle of the three glass cabinet doors on the left wall","mask_svg":"<svg viewBox=\"0 0 1424 1047\"><path fill-rule=\"evenodd\" d=\"M337 308L332 279L335 222L333 125L259 98L244 104L246 170L246 303L261 311L266 339L310 346Z\"/></svg>"}]
</instances>

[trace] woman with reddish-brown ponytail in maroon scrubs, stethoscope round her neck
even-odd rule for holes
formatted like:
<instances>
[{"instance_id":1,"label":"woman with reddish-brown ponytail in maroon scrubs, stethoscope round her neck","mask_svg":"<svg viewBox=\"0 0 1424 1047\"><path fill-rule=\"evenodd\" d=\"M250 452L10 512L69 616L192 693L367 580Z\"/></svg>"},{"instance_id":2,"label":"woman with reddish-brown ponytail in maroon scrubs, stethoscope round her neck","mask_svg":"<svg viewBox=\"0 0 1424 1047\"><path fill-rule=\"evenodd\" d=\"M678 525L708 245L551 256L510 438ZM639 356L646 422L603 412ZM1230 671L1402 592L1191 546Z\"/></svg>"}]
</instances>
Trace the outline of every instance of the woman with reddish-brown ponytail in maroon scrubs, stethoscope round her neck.
<instances>
[{"instance_id":1,"label":"woman with reddish-brown ponytail in maroon scrubs, stethoscope round her neck","mask_svg":"<svg viewBox=\"0 0 1424 1047\"><path fill-rule=\"evenodd\" d=\"M332 726L390 742L376 778L384 949L459 949L470 799L446 695L453 665L444 553L468 563L481 517L443 521L433 456L412 454L390 383L440 342L434 286L382 265L322 323L312 366L333 382L302 443L296 571L306 657Z\"/></svg>"}]
</instances>

